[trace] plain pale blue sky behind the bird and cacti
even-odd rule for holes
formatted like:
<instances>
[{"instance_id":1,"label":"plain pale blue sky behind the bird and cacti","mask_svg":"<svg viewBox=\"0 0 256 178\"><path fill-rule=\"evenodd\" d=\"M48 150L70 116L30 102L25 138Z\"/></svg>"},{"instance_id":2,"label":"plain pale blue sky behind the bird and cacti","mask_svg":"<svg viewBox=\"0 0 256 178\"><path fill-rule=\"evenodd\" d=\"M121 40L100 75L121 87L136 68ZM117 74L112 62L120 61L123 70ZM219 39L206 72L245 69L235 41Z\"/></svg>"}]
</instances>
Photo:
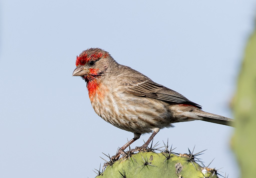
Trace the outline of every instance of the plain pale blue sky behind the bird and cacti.
<instances>
[{"instance_id":1,"label":"plain pale blue sky behind the bird and cacti","mask_svg":"<svg viewBox=\"0 0 256 178\"><path fill-rule=\"evenodd\" d=\"M71 77L84 49L109 51L155 82L232 118L255 0L1 1L0 177L95 177L132 133L94 113L86 84ZM193 121L163 129L154 141L176 152L204 149L207 165L239 177L233 128ZM150 134L134 142L143 144ZM163 145L163 144L162 144Z\"/></svg>"}]
</instances>

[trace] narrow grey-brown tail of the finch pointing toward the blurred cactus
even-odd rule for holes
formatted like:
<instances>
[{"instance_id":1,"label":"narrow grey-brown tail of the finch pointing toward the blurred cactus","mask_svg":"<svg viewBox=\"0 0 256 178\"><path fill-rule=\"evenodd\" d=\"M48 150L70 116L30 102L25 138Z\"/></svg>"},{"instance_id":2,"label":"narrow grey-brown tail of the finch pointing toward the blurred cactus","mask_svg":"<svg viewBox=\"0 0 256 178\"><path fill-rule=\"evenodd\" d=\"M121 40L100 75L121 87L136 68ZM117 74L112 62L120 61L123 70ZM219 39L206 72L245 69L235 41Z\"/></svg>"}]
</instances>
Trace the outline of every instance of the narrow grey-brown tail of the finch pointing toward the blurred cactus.
<instances>
[{"instance_id":1,"label":"narrow grey-brown tail of the finch pointing toward the blurred cactus","mask_svg":"<svg viewBox=\"0 0 256 178\"><path fill-rule=\"evenodd\" d=\"M224 116L219 116L217 114L212 114L212 113L209 113L209 112L205 112L205 111L202 111L202 110L193 110L191 112L196 114L197 116L202 117L203 121L222 124L222 125L228 125L228 126L234 127L233 126L233 124L234 124L233 119L226 118Z\"/></svg>"}]
</instances>

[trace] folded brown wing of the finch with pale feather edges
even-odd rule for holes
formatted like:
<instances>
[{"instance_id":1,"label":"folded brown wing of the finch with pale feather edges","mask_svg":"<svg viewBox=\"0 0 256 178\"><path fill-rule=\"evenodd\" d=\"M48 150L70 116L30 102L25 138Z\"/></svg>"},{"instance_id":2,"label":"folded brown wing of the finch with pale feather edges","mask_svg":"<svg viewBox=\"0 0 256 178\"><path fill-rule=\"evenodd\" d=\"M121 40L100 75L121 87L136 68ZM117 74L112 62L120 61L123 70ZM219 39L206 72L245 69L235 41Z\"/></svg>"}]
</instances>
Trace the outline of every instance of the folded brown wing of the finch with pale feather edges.
<instances>
[{"instance_id":1,"label":"folded brown wing of the finch with pale feather edges","mask_svg":"<svg viewBox=\"0 0 256 178\"><path fill-rule=\"evenodd\" d=\"M159 85L158 83L155 83L152 80L130 83L127 86L126 92L133 94L135 96L155 98L169 103L189 104L201 109L201 106L199 104L188 100L180 93L169 88L166 88L163 85Z\"/></svg>"}]
</instances>

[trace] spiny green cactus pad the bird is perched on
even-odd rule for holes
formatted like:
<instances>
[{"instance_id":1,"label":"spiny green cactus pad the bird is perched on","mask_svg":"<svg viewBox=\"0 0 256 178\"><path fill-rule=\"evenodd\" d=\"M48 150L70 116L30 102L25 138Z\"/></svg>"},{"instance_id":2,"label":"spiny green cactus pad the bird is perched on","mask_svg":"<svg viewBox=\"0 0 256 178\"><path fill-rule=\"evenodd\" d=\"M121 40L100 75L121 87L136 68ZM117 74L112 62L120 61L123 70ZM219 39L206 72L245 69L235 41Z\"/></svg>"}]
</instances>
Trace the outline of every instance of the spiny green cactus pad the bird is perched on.
<instances>
[{"instance_id":1,"label":"spiny green cactus pad the bird is perched on","mask_svg":"<svg viewBox=\"0 0 256 178\"><path fill-rule=\"evenodd\" d=\"M195 162L194 157L190 158L187 154L139 152L130 158L115 161L97 177L218 177L216 174L216 170L200 166Z\"/></svg>"}]
</instances>

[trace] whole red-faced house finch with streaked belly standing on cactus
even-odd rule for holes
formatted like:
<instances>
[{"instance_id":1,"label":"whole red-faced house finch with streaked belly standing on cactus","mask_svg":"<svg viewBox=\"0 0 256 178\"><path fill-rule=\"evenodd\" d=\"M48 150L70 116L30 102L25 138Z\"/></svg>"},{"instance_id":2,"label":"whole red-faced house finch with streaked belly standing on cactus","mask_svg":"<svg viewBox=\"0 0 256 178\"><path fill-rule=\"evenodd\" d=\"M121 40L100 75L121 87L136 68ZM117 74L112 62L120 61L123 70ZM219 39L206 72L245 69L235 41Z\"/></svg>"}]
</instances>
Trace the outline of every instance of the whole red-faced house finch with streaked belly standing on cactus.
<instances>
[{"instance_id":1,"label":"whole red-faced house finch with streaked belly standing on cactus","mask_svg":"<svg viewBox=\"0 0 256 178\"><path fill-rule=\"evenodd\" d=\"M199 104L118 64L100 48L84 50L77 56L76 66L73 76L86 81L94 111L115 127L134 133L134 138L112 157L114 160L141 134L153 131L142 146L145 148L160 129L174 127L172 123L202 120L232 125L232 119L202 111Z\"/></svg>"}]
</instances>

